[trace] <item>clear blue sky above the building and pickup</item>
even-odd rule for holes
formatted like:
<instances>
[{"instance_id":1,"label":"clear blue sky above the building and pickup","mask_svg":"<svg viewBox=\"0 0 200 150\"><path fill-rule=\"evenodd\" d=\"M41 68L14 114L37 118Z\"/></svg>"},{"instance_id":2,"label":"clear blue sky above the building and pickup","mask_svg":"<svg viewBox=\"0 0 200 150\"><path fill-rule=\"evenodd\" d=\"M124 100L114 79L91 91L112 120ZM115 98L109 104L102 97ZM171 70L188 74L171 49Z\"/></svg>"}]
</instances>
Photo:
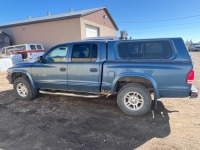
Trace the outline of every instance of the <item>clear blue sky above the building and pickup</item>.
<instances>
[{"instance_id":1,"label":"clear blue sky above the building and pickup","mask_svg":"<svg viewBox=\"0 0 200 150\"><path fill-rule=\"evenodd\" d=\"M119 30L134 39L182 37L200 41L200 0L1 0L0 24L107 7Z\"/></svg>"}]
</instances>

